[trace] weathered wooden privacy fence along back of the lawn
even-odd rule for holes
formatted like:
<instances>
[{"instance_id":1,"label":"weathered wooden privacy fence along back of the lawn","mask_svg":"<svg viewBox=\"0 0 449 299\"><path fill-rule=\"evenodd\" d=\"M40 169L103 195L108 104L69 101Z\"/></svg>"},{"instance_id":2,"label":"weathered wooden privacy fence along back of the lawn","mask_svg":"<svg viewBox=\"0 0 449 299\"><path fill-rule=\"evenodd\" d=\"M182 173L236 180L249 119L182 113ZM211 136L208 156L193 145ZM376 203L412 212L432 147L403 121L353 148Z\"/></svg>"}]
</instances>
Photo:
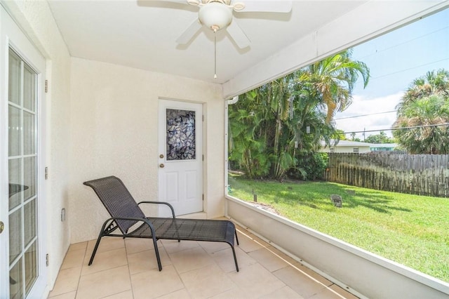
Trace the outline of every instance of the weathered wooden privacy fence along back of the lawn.
<instances>
[{"instance_id":1,"label":"weathered wooden privacy fence along back of the lawn","mask_svg":"<svg viewBox=\"0 0 449 299\"><path fill-rule=\"evenodd\" d=\"M449 155L330 153L324 177L357 187L449 197Z\"/></svg>"}]
</instances>

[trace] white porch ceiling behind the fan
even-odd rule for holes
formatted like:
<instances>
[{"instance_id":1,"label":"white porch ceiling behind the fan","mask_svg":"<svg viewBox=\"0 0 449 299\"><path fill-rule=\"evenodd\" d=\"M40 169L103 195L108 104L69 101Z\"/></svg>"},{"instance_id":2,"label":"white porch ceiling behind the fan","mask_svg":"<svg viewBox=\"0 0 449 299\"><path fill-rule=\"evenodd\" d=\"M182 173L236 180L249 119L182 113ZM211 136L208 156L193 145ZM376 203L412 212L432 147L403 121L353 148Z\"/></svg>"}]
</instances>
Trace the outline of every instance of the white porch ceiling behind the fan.
<instances>
[{"instance_id":1,"label":"white porch ceiling behind the fan","mask_svg":"<svg viewBox=\"0 0 449 299\"><path fill-rule=\"evenodd\" d=\"M175 42L197 18L194 6L163 0L48 2L73 57L225 83L367 1L293 1L290 13L234 13L251 44L240 49L227 32L217 32L217 79L210 29L203 27L187 45Z\"/></svg>"}]
</instances>

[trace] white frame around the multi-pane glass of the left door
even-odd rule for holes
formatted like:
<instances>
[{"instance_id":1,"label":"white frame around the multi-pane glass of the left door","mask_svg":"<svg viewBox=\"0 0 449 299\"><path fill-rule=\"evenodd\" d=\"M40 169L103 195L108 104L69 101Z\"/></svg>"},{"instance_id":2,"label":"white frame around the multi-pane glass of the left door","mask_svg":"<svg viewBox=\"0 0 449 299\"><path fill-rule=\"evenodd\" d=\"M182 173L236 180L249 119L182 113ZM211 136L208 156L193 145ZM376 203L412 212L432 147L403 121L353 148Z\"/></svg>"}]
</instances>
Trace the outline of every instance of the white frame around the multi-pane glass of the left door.
<instances>
[{"instance_id":1,"label":"white frame around the multi-pane glass of the left door","mask_svg":"<svg viewBox=\"0 0 449 299\"><path fill-rule=\"evenodd\" d=\"M47 227L46 227L46 190L44 168L46 165L46 100L45 74L46 60L37 48L20 29L18 24L8 14L6 8L0 5L0 197L8 198L8 53L12 48L27 65L37 74L38 100L37 117L37 201L38 206L38 279L29 291L29 297L42 297L48 291L48 268L46 267ZM3 142L5 141L5 142ZM7 202L0 202L0 219L5 223L5 230L0 234L0 298L9 295L9 259L8 259L8 207ZM5 208L6 207L6 208ZM5 277L3 277L3 275Z\"/></svg>"}]
</instances>

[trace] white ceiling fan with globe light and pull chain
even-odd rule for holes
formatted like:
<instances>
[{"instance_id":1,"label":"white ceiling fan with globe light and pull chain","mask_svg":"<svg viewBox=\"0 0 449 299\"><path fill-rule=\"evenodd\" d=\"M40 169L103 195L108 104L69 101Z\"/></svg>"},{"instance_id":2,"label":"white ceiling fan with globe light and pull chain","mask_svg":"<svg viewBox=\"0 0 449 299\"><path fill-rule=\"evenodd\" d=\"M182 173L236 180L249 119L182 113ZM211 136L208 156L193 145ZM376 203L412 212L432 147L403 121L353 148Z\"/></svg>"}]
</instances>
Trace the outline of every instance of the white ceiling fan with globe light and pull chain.
<instances>
[{"instance_id":1,"label":"white ceiling fan with globe light and pull chain","mask_svg":"<svg viewBox=\"0 0 449 299\"><path fill-rule=\"evenodd\" d=\"M187 44L202 26L213 32L227 29L239 48L246 48L250 40L234 20L233 12L289 13L292 1L288 0L165 0L198 6L198 19L177 38L178 44Z\"/></svg>"}]
</instances>

